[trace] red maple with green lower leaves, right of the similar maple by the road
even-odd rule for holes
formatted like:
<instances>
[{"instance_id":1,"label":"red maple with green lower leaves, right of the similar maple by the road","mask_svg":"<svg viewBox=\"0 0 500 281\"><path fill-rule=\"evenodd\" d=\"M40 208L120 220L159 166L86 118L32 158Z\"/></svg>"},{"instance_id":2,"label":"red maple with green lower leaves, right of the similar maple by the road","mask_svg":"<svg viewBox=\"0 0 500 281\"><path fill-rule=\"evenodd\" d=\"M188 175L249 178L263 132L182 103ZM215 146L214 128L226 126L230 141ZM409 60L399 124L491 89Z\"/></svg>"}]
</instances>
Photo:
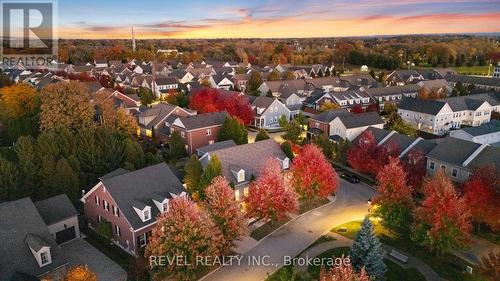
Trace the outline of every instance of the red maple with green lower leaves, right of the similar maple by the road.
<instances>
[{"instance_id":1,"label":"red maple with green lower leaves, right of the similar maple by the road","mask_svg":"<svg viewBox=\"0 0 500 281\"><path fill-rule=\"evenodd\" d=\"M439 171L424 181L424 200L414 211L413 239L437 253L465 249L471 239L471 213L451 181Z\"/></svg>"}]
</instances>

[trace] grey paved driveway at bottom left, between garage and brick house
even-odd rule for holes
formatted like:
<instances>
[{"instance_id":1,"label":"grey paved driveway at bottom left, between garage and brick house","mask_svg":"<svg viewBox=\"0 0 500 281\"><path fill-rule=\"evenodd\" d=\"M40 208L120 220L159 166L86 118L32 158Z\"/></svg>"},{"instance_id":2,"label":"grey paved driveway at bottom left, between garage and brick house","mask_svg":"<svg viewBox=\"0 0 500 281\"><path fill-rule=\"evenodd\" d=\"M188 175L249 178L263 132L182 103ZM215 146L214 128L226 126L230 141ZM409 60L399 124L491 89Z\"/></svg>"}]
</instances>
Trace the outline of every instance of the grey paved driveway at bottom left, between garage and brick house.
<instances>
[{"instance_id":1,"label":"grey paved driveway at bottom left, between garage and brick house","mask_svg":"<svg viewBox=\"0 0 500 281\"><path fill-rule=\"evenodd\" d=\"M69 266L87 265L99 281L127 280L125 270L83 239L64 243L61 250L68 258Z\"/></svg>"}]
</instances>

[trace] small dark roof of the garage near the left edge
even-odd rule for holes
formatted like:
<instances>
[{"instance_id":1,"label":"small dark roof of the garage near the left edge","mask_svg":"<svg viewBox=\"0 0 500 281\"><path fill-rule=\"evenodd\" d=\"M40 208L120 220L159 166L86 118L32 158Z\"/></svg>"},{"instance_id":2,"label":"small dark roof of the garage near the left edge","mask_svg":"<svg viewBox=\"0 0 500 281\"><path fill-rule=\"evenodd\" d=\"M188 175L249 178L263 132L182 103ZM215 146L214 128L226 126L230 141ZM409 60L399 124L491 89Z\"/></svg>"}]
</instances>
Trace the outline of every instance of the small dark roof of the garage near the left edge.
<instances>
[{"instance_id":1,"label":"small dark roof of the garage near the left edge","mask_svg":"<svg viewBox=\"0 0 500 281\"><path fill-rule=\"evenodd\" d=\"M47 225L78 215L66 194L35 202L35 206Z\"/></svg>"}]
</instances>

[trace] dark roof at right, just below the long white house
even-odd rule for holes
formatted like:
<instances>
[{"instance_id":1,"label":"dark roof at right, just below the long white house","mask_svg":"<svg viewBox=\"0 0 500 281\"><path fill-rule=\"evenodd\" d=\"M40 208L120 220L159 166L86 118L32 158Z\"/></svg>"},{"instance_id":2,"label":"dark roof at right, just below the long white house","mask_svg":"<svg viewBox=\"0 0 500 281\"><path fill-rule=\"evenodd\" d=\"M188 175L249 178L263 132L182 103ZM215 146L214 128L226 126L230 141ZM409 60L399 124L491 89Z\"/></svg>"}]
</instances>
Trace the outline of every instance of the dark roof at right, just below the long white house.
<instances>
[{"instance_id":1,"label":"dark roof at right, just below the long white house","mask_svg":"<svg viewBox=\"0 0 500 281\"><path fill-rule=\"evenodd\" d=\"M462 166L465 160L476 151L481 144L447 137L439 141L427 157L456 166Z\"/></svg>"}]
</instances>

